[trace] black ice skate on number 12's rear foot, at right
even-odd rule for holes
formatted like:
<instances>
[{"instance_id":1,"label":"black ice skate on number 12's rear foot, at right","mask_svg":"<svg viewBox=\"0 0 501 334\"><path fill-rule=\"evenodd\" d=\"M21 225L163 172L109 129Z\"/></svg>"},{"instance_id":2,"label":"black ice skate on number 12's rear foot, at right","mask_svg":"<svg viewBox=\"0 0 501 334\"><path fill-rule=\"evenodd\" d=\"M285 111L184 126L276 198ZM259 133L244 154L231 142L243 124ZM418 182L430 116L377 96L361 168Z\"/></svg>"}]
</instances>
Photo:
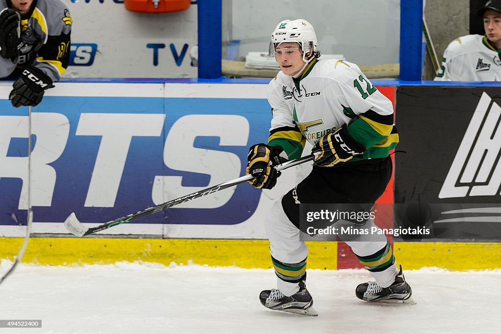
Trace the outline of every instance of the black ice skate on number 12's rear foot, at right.
<instances>
[{"instance_id":1,"label":"black ice skate on number 12's rear foot, at right","mask_svg":"<svg viewBox=\"0 0 501 334\"><path fill-rule=\"evenodd\" d=\"M357 286L355 294L362 300L366 301L382 301L382 300L407 300L412 295L412 289L405 281L404 274L402 273L402 266L400 272L395 277L395 281L388 287L381 287L376 282L362 283Z\"/></svg>"}]
</instances>

